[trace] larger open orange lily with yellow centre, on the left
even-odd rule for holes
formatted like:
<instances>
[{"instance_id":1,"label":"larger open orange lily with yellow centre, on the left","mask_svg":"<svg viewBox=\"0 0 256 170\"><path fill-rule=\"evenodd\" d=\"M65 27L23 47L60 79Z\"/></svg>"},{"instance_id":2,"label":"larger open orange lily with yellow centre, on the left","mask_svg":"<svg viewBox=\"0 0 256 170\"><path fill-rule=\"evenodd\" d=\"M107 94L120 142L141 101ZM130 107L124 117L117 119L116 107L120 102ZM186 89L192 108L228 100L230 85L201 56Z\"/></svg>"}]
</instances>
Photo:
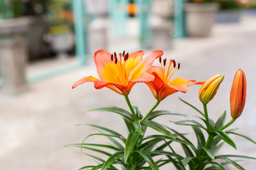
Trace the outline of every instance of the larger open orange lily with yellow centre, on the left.
<instances>
[{"instance_id":1,"label":"larger open orange lily with yellow centre, on the left","mask_svg":"<svg viewBox=\"0 0 256 170\"><path fill-rule=\"evenodd\" d=\"M111 54L105 50L95 52L94 60L100 79L86 76L76 81L72 89L83 83L93 81L95 89L108 87L118 94L127 96L133 85L137 82L153 81L154 76L148 73L154 60L163 55L162 51L154 51L145 59L142 59L144 51L132 53Z\"/></svg>"}]
</instances>

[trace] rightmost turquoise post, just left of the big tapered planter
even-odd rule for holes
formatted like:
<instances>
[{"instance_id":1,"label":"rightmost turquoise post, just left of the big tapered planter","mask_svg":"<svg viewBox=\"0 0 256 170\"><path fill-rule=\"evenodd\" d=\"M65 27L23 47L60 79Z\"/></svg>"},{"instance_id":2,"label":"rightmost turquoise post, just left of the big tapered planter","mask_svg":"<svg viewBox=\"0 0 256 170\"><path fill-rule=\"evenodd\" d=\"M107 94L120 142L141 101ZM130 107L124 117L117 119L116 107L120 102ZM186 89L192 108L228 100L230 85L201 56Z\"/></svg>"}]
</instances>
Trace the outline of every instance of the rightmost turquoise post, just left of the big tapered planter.
<instances>
[{"instance_id":1,"label":"rightmost turquoise post, just left of the big tapered planter","mask_svg":"<svg viewBox=\"0 0 256 170\"><path fill-rule=\"evenodd\" d=\"M174 0L174 31L173 39L184 37L184 15L182 0Z\"/></svg>"}]
</instances>

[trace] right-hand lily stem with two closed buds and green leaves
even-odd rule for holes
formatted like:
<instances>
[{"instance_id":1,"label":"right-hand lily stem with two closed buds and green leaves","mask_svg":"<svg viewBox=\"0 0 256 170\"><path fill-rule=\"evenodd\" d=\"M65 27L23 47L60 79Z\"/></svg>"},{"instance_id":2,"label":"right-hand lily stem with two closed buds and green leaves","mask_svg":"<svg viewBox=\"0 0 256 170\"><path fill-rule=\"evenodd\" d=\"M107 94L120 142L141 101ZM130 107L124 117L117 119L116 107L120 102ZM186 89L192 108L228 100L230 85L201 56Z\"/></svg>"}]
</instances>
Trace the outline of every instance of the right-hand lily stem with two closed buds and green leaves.
<instances>
[{"instance_id":1,"label":"right-hand lily stem with two closed buds and green leaves","mask_svg":"<svg viewBox=\"0 0 256 170\"><path fill-rule=\"evenodd\" d=\"M196 139L198 141L197 148L196 145L193 145L193 147L182 147L184 149L184 152L186 153L186 157L182 158L181 160L182 163L184 164L184 167L188 165L189 169L225 169L225 165L232 164L232 166L236 167L237 169L244 169L236 162L236 160L232 160L232 158L256 159L254 157L248 157L244 155L217 154L224 144L221 141L224 141L228 145L236 148L236 144L228 136L228 134L235 134L237 136L241 136L242 138L245 138L248 141L256 144L256 142L253 141L253 139L248 138L243 134L234 132L236 131L236 129L225 130L229 125L235 122L236 118L240 117L244 108L246 99L246 78L243 70L238 69L236 71L232 88L230 91L230 115L232 117L230 122L225 124L227 111L224 111L216 122L209 118L207 104L216 95L223 79L224 76L221 74L212 76L211 78L209 78L209 80L205 81L204 85L202 85L202 87L200 88L198 96L204 106L204 111L200 111L192 104L189 104L181 99L182 102L188 104L193 109L198 111L198 113L200 113L202 117L199 118L205 124L204 126L196 120L182 120L179 122L173 122L174 124L189 125L193 127L193 131L195 132ZM207 139L205 139L205 134L203 133L202 130L207 132ZM182 138L185 137L182 136ZM189 139L186 139L186 141L191 143ZM220 162L218 160L222 160L224 162Z\"/></svg>"}]
</instances>

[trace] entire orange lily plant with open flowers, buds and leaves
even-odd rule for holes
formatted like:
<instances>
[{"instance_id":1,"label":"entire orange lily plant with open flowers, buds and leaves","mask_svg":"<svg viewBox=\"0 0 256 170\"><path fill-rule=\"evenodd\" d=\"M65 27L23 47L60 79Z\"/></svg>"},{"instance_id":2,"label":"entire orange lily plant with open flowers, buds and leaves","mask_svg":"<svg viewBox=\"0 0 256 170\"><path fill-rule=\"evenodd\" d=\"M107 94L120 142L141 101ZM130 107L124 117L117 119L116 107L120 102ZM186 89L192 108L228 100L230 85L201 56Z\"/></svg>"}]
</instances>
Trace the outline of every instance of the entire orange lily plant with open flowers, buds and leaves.
<instances>
[{"instance_id":1,"label":"entire orange lily plant with open flowers, buds and leaves","mask_svg":"<svg viewBox=\"0 0 256 170\"><path fill-rule=\"evenodd\" d=\"M180 64L177 64L175 60L170 60L169 63L167 63L167 59L162 60L163 52L159 50L152 52L145 58L143 58L144 53L144 51L140 50L132 53L125 53L124 51L118 54L116 52L111 54L105 50L99 50L94 55L99 78L85 76L74 83L73 89L90 81L94 83L95 89L107 87L124 96L129 106L129 110L124 110L117 106L89 110L108 111L122 116L128 132L127 136L124 136L106 127L84 124L95 127L99 130L99 133L86 136L82 143L68 146L79 147L81 151L84 149L96 152L97 155L85 154L95 159L97 164L84 166L81 169L159 169L159 167L166 164L173 164L176 169L182 170L186 169L187 165L189 169L204 169L209 164L212 165L212 169L214 167L224 168L221 163L215 162L214 159L223 159L239 167L236 162L234 163L234 161L228 158L234 157L234 155L216 156L215 152L220 148L218 143L220 143L221 139L229 145L236 147L227 134L237 133L223 130L232 124L243 111L246 97L246 80L243 71L240 70L236 73L231 90L230 106L233 119L224 125L225 112L214 124L213 120L208 117L207 103L216 94L224 76L216 75L206 82L180 77L172 78L175 71L180 69ZM160 66L152 66L155 60L159 60ZM146 114L141 113L137 106L132 106L129 100L131 89L136 83L145 83L156 98L156 104ZM203 116L201 119L205 122L206 127L195 120L183 120L174 123L191 125L193 127L198 139L198 148L185 137L185 134L181 134L171 127L154 121L154 118L163 115L184 116L173 111L156 110L156 108L166 97L175 92L185 93L191 85L202 85L199 98L204 105L204 113L196 109L195 106L182 101L199 111ZM154 129L160 134L146 136L145 132L148 128ZM207 131L207 142L205 142L204 134L200 128ZM255 141L248 137L241 134L237 135L255 143ZM106 136L111 144L87 143L87 139L92 136ZM184 149L186 156L175 152L172 146L173 143L179 143ZM99 154L103 154L108 158L104 160ZM252 157L239 157L253 159Z\"/></svg>"}]
</instances>

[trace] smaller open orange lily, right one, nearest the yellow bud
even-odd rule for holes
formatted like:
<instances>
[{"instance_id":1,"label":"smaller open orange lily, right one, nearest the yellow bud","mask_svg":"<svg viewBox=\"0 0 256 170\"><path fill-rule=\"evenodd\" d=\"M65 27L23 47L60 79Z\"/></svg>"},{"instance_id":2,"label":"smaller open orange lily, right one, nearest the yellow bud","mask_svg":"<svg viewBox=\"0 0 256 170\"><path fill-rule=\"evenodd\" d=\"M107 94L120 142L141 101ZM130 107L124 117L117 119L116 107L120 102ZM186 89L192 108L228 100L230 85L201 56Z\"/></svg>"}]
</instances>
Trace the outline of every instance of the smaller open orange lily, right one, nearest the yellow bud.
<instances>
[{"instance_id":1,"label":"smaller open orange lily, right one, nearest the yellow bud","mask_svg":"<svg viewBox=\"0 0 256 170\"><path fill-rule=\"evenodd\" d=\"M168 69L166 69L166 59L163 60L162 64L160 57L159 62L161 63L161 67L152 66L149 70L149 72L155 76L154 81L146 82L152 94L158 101L162 101L165 97L170 96L175 92L185 93L191 85L202 85L204 83L181 77L174 78L170 81L175 71L180 68L180 63L176 67L175 60L170 60Z\"/></svg>"}]
</instances>

